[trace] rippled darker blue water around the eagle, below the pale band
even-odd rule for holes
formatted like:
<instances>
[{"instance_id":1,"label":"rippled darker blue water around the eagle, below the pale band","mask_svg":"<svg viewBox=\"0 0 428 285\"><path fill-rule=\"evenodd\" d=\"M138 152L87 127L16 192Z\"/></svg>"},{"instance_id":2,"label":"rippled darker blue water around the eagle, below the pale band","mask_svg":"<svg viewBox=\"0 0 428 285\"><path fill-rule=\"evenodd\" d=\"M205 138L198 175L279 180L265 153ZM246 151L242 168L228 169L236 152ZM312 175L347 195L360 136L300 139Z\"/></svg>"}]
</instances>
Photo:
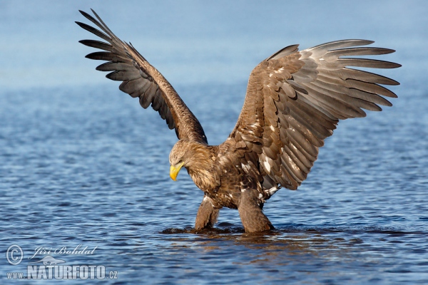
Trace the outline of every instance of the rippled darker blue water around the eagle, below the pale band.
<instances>
[{"instance_id":1,"label":"rippled darker blue water around the eagle, below the pale band","mask_svg":"<svg viewBox=\"0 0 428 285\"><path fill-rule=\"evenodd\" d=\"M244 84L244 83L243 83ZM225 138L240 86L178 88L193 103L208 140ZM184 97L184 95L183 95ZM229 101L230 100L230 101ZM220 211L218 230L194 232L203 194L181 172L168 177L175 135L154 112L110 88L39 89L1 97L0 240L24 250L97 247L54 255L68 264L102 264L119 283L238 281L420 283L428 281L427 118L403 103L345 121L327 140L307 181L265 204L277 228L245 234L238 212ZM49 102L49 104L46 104ZM216 106L215 120L205 103ZM211 122L211 123L210 123Z\"/></svg>"}]
</instances>

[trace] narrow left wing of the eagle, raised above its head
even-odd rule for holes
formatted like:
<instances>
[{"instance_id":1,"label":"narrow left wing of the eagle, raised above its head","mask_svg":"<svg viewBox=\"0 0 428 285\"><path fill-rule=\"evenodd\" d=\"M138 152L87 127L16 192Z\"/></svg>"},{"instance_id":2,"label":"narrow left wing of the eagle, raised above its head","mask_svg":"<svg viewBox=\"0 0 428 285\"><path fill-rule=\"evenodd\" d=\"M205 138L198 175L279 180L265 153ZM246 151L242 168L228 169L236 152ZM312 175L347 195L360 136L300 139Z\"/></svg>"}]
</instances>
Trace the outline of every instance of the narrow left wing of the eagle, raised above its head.
<instances>
[{"instance_id":1,"label":"narrow left wing of the eagle, raised above its head","mask_svg":"<svg viewBox=\"0 0 428 285\"><path fill-rule=\"evenodd\" d=\"M86 56L86 58L108 61L96 69L113 71L106 77L113 81L123 81L119 89L134 98L138 97L143 108L151 105L154 110L158 111L161 118L166 120L170 129L175 128L179 139L208 143L198 119L162 74L151 66L131 43L125 43L116 37L95 11L92 10L96 19L83 11L80 12L86 19L101 28L101 31L81 22L76 22L76 24L107 42L80 41L86 46L103 50L89 53Z\"/></svg>"}]
</instances>

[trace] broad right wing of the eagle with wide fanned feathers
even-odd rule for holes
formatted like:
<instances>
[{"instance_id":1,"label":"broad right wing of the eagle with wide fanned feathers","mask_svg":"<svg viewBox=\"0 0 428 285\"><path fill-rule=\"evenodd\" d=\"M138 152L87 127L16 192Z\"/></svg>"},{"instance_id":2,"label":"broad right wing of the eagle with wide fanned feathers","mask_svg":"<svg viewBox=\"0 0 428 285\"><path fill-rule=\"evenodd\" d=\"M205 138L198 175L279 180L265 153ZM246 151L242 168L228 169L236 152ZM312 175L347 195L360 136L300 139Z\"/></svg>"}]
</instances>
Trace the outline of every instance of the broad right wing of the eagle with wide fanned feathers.
<instances>
[{"instance_id":1,"label":"broad right wing of the eagle with wide fanned feathers","mask_svg":"<svg viewBox=\"0 0 428 285\"><path fill-rule=\"evenodd\" d=\"M348 68L400 66L356 58L394 52L355 47L370 43L335 41L304 51L288 46L254 68L243 110L228 141L235 141L241 157L243 153L256 157L265 189L277 185L297 189L340 119L364 117L362 109L379 111L379 105L392 105L382 96L397 95L381 85L398 85L397 81Z\"/></svg>"}]
</instances>

